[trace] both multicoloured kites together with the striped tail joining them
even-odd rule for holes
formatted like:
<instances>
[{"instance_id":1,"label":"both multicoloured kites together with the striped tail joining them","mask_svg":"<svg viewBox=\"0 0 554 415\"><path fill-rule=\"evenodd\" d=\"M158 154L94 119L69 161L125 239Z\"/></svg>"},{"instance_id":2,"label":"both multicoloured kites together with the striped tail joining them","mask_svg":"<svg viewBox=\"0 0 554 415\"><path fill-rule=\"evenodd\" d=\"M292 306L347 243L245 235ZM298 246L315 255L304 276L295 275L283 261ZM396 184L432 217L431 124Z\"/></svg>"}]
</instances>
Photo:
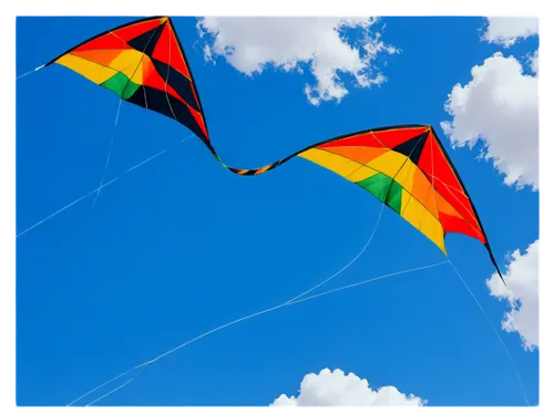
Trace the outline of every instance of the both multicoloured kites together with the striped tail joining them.
<instances>
[{"instance_id":1,"label":"both multicoloured kites together with the striped tail joining them","mask_svg":"<svg viewBox=\"0 0 554 415\"><path fill-rule=\"evenodd\" d=\"M257 169L225 165L207 128L199 94L170 15L126 23L72 48L58 63L120 98L171 117L191 129L229 172L255 176L301 157L376 196L435 243L458 232L480 240L500 278L476 209L452 160L428 125L368 129L331 138Z\"/></svg>"}]
</instances>

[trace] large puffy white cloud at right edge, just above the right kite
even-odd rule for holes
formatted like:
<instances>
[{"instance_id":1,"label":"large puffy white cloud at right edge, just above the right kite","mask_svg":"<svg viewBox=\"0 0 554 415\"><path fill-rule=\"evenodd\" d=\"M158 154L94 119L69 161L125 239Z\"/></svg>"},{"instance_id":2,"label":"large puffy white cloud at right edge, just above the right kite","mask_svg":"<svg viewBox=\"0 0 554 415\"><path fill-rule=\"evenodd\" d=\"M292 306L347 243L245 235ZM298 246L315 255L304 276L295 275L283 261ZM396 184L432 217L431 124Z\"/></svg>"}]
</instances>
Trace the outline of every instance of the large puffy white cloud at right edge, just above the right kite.
<instances>
[{"instance_id":1,"label":"large puffy white cloud at right edge, just above the right kite","mask_svg":"<svg viewBox=\"0 0 554 415\"><path fill-rule=\"evenodd\" d=\"M536 69L536 63L531 65ZM538 190L540 79L524 74L515 58L500 52L473 66L471 74L466 85L456 84L449 94L444 110L453 120L441 123L444 133L459 147L482 141L481 156L493 162L504 184Z\"/></svg>"}]
</instances>

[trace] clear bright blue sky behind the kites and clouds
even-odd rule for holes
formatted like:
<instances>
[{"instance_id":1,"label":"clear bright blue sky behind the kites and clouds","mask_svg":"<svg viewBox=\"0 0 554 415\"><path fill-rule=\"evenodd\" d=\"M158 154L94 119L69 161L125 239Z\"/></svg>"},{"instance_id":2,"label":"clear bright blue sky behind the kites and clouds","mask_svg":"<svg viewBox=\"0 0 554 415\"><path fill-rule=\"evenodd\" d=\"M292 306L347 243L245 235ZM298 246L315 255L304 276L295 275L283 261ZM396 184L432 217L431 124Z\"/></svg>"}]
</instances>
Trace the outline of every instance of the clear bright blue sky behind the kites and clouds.
<instances>
[{"instance_id":1,"label":"clear bright blue sky behind the kites and clouds","mask_svg":"<svg viewBox=\"0 0 554 415\"><path fill-rule=\"evenodd\" d=\"M18 15L18 73L136 18ZM506 255L540 238L538 193L506 185L502 165L478 159L483 142L452 149L441 128L453 117L444 110L449 94L472 81L473 66L501 51L522 62L525 76L538 37L504 48L480 40L483 17L382 17L370 33L380 32L400 52L372 62L387 82L357 87L342 74L349 93L314 105L302 92L306 83L317 84L308 63L304 73L264 68L248 76L217 53L215 64L205 60L203 48L214 40L199 38L195 17L173 20L227 164L258 167L358 129L431 124L501 268L509 266ZM343 40L356 44L359 35L352 29ZM99 186L119 98L55 65L18 80L14 91L14 225L21 231ZM259 177L235 176L199 139L175 146L187 135L182 125L123 103L106 179L172 149L103 189L94 209L89 197L16 240L18 406L62 406L207 330L284 302L340 269L369 238L379 201L332 173L298 159ZM520 139L536 146L533 137ZM538 406L540 355L522 346L517 331L502 331L510 307L485 284L493 273L486 250L459 235L447 237L447 249ZM320 291L442 260L434 245L386 210L367 252ZM525 405L505 351L448 266L222 330L95 405L259 408L281 394L298 396L304 376L326 367L352 372L372 388L393 385L431 407Z\"/></svg>"}]
</instances>

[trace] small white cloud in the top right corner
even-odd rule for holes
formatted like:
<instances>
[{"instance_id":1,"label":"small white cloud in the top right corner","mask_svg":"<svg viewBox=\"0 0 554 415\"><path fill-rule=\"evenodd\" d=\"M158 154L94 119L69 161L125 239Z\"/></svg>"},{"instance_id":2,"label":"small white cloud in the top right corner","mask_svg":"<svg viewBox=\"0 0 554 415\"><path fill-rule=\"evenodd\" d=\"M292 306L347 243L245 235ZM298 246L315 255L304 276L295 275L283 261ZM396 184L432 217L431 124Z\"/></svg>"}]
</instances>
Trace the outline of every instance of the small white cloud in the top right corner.
<instances>
[{"instance_id":1,"label":"small white cloud in the top right corner","mask_svg":"<svg viewBox=\"0 0 554 415\"><path fill-rule=\"evenodd\" d=\"M497 10L486 15L482 39L510 48L519 40L537 34L541 34L541 20L536 11Z\"/></svg>"}]
</instances>

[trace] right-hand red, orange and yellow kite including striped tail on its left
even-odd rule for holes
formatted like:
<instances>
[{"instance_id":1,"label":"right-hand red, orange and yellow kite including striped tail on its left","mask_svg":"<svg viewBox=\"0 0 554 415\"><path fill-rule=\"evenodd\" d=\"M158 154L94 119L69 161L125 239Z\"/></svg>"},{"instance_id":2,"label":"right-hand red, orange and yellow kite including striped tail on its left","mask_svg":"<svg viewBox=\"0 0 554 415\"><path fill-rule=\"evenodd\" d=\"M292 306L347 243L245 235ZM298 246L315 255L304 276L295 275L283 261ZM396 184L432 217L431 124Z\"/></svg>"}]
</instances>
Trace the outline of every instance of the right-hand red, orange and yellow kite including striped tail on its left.
<instances>
[{"instance_id":1,"label":"right-hand red, orange and yellow kite including striped tail on its left","mask_svg":"<svg viewBox=\"0 0 554 415\"><path fill-rule=\"evenodd\" d=\"M263 174L294 156L326 167L369 191L447 255L447 234L480 240L496 261L462 180L437 133L427 125L376 128L328 139L258 169Z\"/></svg>"}]
</instances>

